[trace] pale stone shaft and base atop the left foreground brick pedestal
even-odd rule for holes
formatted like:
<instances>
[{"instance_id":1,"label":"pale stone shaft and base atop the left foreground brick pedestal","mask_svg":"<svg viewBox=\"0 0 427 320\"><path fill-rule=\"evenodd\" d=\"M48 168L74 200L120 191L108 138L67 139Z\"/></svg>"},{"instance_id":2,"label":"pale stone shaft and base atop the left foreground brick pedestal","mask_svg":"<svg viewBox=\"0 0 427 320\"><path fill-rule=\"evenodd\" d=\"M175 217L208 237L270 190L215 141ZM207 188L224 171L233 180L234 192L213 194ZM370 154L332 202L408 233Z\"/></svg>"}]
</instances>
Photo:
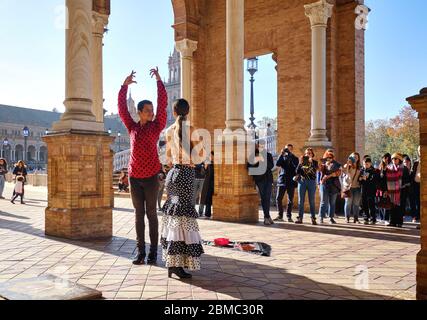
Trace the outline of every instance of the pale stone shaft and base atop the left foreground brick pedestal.
<instances>
[{"instance_id":1,"label":"pale stone shaft and base atop the left foreground brick pedestal","mask_svg":"<svg viewBox=\"0 0 427 320\"><path fill-rule=\"evenodd\" d=\"M53 131L104 131L92 113L92 1L67 0L65 113Z\"/></svg>"}]
</instances>

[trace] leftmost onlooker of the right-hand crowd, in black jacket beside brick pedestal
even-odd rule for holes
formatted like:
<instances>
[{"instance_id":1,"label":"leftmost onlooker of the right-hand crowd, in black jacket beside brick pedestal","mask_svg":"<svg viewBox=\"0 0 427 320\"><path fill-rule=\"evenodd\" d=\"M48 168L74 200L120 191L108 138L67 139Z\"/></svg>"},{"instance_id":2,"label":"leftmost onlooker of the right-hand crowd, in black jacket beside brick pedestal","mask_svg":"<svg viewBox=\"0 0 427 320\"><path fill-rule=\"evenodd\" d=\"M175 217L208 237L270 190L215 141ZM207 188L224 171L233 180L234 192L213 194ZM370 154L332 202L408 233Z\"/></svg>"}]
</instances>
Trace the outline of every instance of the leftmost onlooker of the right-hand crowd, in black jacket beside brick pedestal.
<instances>
[{"instance_id":1,"label":"leftmost onlooker of the right-hand crowd, in black jacket beside brick pedestal","mask_svg":"<svg viewBox=\"0 0 427 320\"><path fill-rule=\"evenodd\" d=\"M273 189L273 173L271 172L274 168L273 156L264 148L261 150L259 145L257 145L255 155L251 156L250 160L248 168L255 169L255 172L251 172L250 170L249 174L252 175L261 197L264 225L274 224L270 216L270 199Z\"/></svg>"}]
</instances>

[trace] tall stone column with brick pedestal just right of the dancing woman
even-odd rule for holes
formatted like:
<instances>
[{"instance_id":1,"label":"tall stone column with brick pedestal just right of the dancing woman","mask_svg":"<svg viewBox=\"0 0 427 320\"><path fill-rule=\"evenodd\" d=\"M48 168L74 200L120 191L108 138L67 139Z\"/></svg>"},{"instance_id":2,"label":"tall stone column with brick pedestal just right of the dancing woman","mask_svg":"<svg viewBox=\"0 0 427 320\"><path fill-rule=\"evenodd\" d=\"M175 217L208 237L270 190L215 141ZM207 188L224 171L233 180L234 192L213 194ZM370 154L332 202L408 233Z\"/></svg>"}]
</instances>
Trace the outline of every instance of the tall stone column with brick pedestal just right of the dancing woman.
<instances>
[{"instance_id":1,"label":"tall stone column with brick pedestal just right of the dancing woman","mask_svg":"<svg viewBox=\"0 0 427 320\"><path fill-rule=\"evenodd\" d=\"M258 195L248 174L243 113L244 0L227 0L226 129L215 139L215 194L213 219L258 222ZM229 143L229 142L231 143ZM218 152L221 151L220 156ZM219 159L218 159L219 158Z\"/></svg>"}]
</instances>

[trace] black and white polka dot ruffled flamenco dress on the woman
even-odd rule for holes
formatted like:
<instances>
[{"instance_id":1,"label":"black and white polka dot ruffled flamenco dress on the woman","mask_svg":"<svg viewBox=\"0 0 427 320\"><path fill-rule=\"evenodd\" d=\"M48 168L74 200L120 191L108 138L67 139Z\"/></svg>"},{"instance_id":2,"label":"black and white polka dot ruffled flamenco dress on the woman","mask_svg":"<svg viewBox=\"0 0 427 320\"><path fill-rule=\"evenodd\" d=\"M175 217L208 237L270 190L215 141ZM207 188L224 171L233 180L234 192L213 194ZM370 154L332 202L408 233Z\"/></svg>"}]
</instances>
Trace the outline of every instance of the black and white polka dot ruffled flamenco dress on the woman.
<instances>
[{"instance_id":1,"label":"black and white polka dot ruffled flamenco dress on the woman","mask_svg":"<svg viewBox=\"0 0 427 320\"><path fill-rule=\"evenodd\" d=\"M197 223L198 213L193 203L194 168L180 165L179 138L172 125L166 134L171 134L173 168L169 171L165 188L167 200L163 206L161 245L166 267L182 267L200 270L200 257L204 253ZM178 141L177 141L178 140Z\"/></svg>"}]
</instances>

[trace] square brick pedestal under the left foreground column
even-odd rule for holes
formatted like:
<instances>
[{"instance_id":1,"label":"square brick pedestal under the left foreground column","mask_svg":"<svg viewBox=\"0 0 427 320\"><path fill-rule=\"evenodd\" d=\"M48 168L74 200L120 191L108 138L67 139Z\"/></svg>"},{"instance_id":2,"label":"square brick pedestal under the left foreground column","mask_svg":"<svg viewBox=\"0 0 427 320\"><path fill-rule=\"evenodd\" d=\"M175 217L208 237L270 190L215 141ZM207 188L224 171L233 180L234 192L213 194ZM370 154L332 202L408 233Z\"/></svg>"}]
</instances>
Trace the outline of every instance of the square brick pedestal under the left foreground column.
<instances>
[{"instance_id":1,"label":"square brick pedestal under the left foreground column","mask_svg":"<svg viewBox=\"0 0 427 320\"><path fill-rule=\"evenodd\" d=\"M113 137L105 133L51 133L45 233L66 239L113 234Z\"/></svg>"}]
</instances>

